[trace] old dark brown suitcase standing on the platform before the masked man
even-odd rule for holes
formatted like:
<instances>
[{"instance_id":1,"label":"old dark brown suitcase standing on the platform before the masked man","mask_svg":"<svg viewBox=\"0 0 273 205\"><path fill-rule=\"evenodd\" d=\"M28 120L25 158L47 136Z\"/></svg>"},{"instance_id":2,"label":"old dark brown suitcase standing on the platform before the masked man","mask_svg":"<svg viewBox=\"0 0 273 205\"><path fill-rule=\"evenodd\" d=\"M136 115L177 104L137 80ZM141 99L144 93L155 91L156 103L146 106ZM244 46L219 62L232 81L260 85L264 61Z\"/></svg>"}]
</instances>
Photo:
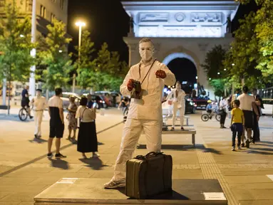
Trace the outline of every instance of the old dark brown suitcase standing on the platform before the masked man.
<instances>
[{"instance_id":1,"label":"old dark brown suitcase standing on the platform before the masked man","mask_svg":"<svg viewBox=\"0 0 273 205\"><path fill-rule=\"evenodd\" d=\"M126 196L148 199L172 191L172 156L149 152L126 162Z\"/></svg>"}]
</instances>

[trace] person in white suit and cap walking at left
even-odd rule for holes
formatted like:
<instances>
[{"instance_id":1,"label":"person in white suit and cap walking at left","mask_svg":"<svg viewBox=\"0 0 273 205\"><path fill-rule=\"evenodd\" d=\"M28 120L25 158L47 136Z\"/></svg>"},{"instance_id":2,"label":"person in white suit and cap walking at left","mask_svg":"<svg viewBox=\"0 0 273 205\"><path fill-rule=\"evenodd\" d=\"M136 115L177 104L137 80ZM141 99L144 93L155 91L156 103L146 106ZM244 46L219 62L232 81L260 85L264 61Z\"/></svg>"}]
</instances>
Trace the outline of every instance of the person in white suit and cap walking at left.
<instances>
[{"instance_id":1,"label":"person in white suit and cap walking at left","mask_svg":"<svg viewBox=\"0 0 273 205\"><path fill-rule=\"evenodd\" d=\"M42 95L42 90L36 90L36 96L31 100L31 104L34 105L34 124L35 131L34 137L36 139L41 138L41 123L43 121L43 110L46 109L46 98Z\"/></svg>"}]
</instances>

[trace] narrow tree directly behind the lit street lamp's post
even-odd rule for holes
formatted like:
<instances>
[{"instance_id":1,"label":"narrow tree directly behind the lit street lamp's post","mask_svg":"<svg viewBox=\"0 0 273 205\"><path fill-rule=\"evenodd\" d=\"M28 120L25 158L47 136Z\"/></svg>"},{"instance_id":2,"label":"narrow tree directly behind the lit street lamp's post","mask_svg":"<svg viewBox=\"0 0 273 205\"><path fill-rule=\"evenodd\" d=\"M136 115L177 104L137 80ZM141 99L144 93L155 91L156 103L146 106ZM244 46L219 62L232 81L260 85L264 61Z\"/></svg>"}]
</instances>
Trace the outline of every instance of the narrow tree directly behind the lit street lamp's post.
<instances>
[{"instance_id":1,"label":"narrow tree directly behind the lit street lamp's post","mask_svg":"<svg viewBox=\"0 0 273 205\"><path fill-rule=\"evenodd\" d=\"M81 46L81 59L76 61L74 67L77 69L78 85L80 85L83 89L86 89L92 86L92 75L96 70L96 60L92 58L92 54L95 49L94 43L91 41L89 31L83 31L82 41L83 45ZM78 46L76 46L76 51L78 51Z\"/></svg>"}]
</instances>

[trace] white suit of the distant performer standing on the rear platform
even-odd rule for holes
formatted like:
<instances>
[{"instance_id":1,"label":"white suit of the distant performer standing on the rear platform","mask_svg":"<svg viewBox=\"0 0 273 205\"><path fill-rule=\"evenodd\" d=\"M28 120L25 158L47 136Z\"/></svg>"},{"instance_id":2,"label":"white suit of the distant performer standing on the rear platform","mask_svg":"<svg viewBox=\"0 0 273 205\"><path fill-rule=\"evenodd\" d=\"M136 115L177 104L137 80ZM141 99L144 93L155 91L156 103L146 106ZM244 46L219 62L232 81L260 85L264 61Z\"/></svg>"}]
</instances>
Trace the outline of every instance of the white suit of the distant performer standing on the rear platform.
<instances>
[{"instance_id":1,"label":"white suit of the distant performer standing on the rear platform","mask_svg":"<svg viewBox=\"0 0 273 205\"><path fill-rule=\"evenodd\" d=\"M180 89L178 90L178 95L176 94L176 88L168 95L168 98L175 99L172 101L173 110L172 110L172 127L175 127L176 113L177 110L180 112L180 125L184 125L184 114L185 114L185 91Z\"/></svg>"}]
</instances>

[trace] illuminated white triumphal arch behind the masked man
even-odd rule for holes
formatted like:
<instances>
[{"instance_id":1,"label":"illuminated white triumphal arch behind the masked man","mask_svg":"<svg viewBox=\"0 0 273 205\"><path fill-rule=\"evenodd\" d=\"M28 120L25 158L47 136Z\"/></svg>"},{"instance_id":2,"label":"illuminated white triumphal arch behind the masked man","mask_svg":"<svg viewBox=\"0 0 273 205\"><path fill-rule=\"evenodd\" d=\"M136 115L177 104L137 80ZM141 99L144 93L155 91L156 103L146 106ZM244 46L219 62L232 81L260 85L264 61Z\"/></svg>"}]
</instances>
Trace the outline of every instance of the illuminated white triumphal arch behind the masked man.
<instances>
[{"instance_id":1,"label":"illuminated white triumphal arch behind the masked man","mask_svg":"<svg viewBox=\"0 0 273 205\"><path fill-rule=\"evenodd\" d=\"M231 21L239 4L233 0L123 1L122 4L131 17L130 33L123 38L129 48L129 64L140 61L140 38L150 37L159 61L166 65L175 58L192 61L197 70L197 83L214 98L200 65L215 45L229 48L233 40Z\"/></svg>"}]
</instances>

